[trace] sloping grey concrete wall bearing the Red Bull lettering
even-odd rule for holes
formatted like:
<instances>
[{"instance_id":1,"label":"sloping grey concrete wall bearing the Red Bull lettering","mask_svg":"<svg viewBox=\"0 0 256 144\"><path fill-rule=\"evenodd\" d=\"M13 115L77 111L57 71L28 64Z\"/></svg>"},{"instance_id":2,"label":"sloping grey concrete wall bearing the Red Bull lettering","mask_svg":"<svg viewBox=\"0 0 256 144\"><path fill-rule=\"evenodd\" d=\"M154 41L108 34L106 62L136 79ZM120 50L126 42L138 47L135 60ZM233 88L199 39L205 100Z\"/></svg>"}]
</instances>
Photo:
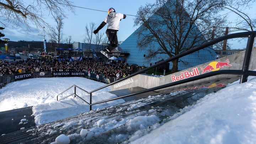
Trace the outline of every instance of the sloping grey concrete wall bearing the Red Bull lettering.
<instances>
[{"instance_id":1,"label":"sloping grey concrete wall bearing the Red Bull lettering","mask_svg":"<svg viewBox=\"0 0 256 144\"><path fill-rule=\"evenodd\" d=\"M205 63L205 64L201 64L198 66L194 66L190 69L186 69L186 70L182 70L179 71L177 73L174 74L170 74L167 76L163 76L163 77L154 77L154 76L148 76L148 75L136 75L133 76L131 79L133 82L123 82L123 84L115 84L111 86L111 91L114 90L121 90L121 89L127 89L127 88L131 88L131 87L143 87L145 89L149 89L152 87L156 87L156 86L160 86L160 85L164 85L164 84L169 84L171 82L174 82L175 80L178 80L179 78L183 78L185 73L187 74L187 76L189 76L188 74L190 73L191 75L194 74L194 76L196 75L200 75L202 73L209 73L210 71L217 71L217 70L240 70L242 69L242 65L244 62L244 55L245 55L245 50L233 55L229 55L227 57L224 58L220 58L214 61L211 61L209 63ZM226 61L228 59L229 63ZM220 63L218 63L220 62ZM218 65L221 66L223 65L223 68L220 67L218 68ZM206 68L206 67L210 67L213 70L209 70L209 71L203 71L201 70ZM251 62L250 62L250 70L254 70L256 69L256 49L253 49L252 52L252 58L251 58ZM183 77L182 77L182 73L183 73ZM163 91L163 90L169 90L169 89L179 89L182 87L186 87L188 85L198 85L198 84L203 84L203 83L207 83L210 81L214 81L214 80L221 80L223 78L232 78L235 77L237 75L218 75L218 76L212 76L206 79L201 79L201 80L196 80L196 81L192 81L192 82L188 82L185 84L181 84L181 85L176 85L176 86L172 86L172 87L167 87L165 89L161 89L158 91Z\"/></svg>"}]
</instances>

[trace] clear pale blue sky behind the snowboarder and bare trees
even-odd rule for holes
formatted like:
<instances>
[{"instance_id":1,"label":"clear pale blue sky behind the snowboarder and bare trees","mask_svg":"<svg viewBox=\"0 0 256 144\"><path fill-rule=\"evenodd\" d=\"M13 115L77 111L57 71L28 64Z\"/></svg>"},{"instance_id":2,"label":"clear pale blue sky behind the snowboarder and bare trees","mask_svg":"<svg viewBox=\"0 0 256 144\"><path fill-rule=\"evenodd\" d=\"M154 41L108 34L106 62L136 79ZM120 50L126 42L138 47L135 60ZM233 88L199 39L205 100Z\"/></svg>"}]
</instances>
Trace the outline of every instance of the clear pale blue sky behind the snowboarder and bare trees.
<instances>
[{"instance_id":1,"label":"clear pale blue sky behind the snowboarder and bare trees","mask_svg":"<svg viewBox=\"0 0 256 144\"><path fill-rule=\"evenodd\" d=\"M31 1L31 0L24 0ZM97 9L102 11L107 11L110 7L113 7L116 12L120 12L122 14L136 15L137 10L141 5L145 5L146 2L153 3L155 0L74 0L75 6L86 7L90 9ZM256 6L254 4L252 7ZM66 11L68 14L67 18L64 19L64 29L63 29L63 39L68 36L72 36L73 41L75 42L83 42L85 38L85 26L90 22L96 23L96 27L100 25L100 23L104 20L107 15L107 12L94 11L81 9L78 7L74 7L75 15L69 11ZM256 11L254 9L247 10L247 12L255 18ZM47 13L48 14L48 13ZM47 15L46 14L46 15ZM230 15L230 21L234 21L235 18ZM46 22L50 23L50 25L55 26L55 22L51 15L46 18ZM120 29L118 31L118 41L124 41L127 37L132 34L137 27L134 27L134 16L127 16L126 19L120 22ZM100 30L101 33L105 33L106 27ZM27 30L26 27L5 27L3 31L5 34L4 38L10 38L11 41L42 41L43 37L38 36L38 34L43 35L42 30L38 31L35 27L31 27L30 30ZM47 41L49 40L48 34L46 34ZM246 46L246 40L239 42L231 42L232 47L234 49L241 49Z\"/></svg>"}]
</instances>

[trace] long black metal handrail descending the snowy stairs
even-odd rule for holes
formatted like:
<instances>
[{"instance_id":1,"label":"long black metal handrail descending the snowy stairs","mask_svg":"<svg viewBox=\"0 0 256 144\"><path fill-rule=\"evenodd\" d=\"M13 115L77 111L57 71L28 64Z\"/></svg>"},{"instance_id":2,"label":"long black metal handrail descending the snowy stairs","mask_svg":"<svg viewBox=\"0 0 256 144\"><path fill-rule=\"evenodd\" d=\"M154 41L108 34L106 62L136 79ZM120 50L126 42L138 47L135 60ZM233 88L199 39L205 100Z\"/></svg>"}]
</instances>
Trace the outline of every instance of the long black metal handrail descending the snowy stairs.
<instances>
[{"instance_id":1,"label":"long black metal handrail descending the snowy stairs","mask_svg":"<svg viewBox=\"0 0 256 144\"><path fill-rule=\"evenodd\" d=\"M142 69L140 71L137 71L137 72L135 72L135 73L133 73L133 74L131 74L129 76L126 76L126 77L124 77L124 78L122 78L120 80L114 81L111 84L107 84L105 86L99 87L99 88L97 88L95 90L92 90L90 92L86 92L87 94L90 94L90 103L87 103L87 102L86 103L90 106L90 111L91 111L93 105L97 105L97 104L100 104L100 103L104 103L104 102L108 102L108 101L113 101L113 100L118 100L118 99L121 99L121 98L124 98L124 97L133 96L133 95L143 94L145 92L150 92L150 91L154 91L154 90L164 89L166 87L175 86L175 85L183 84L183 83L186 83L186 82L191 82L191 81L194 81L194 80L204 79L204 78L208 78L210 76L221 75L221 74L232 74L232 75L238 75L239 74L239 75L241 75L240 83L246 82L248 76L256 76L256 71L250 71L249 70L249 64L250 64L250 59L251 59L252 48L254 46L255 36L256 36L256 31L251 31L251 32L241 32L241 33L228 34L228 35L225 35L223 37L219 37L219 38L213 39L212 41L204 43L204 44L202 44L202 45L200 45L198 47L195 47L195 48L192 48L192 49L188 49L187 51L182 52L182 53L180 53L178 55L175 55L174 57L168 58L168 59L166 59L166 60L164 60L162 62L159 62L159 63L157 63L155 65L152 65L152 66L150 66L148 68L145 68L145 69ZM121 96L121 97L116 97L116 98L111 98L111 99L108 99L108 100L103 100L103 101L91 103L91 101L92 101L92 99L91 99L92 98L91 97L92 96L92 92L101 90L101 89L103 89L103 88L105 88L107 86L111 86L111 85L116 84L116 83L118 83L120 81L129 79L132 76L138 75L140 73L143 73L145 71L153 69L153 68L155 68L157 66L160 66L162 64L171 62L172 60L181 58L183 56L186 56L188 54L191 54L191 53L196 52L198 50L201 50L203 48L212 46L213 44L216 44L218 42L224 41L226 39L240 38L240 37L248 37L242 70L219 70L219 71L212 71L210 73L206 73L206 74L194 76L192 78L187 78L187 79L171 82L169 84L153 87L153 88L146 89L146 90L143 90L143 91L135 92L133 94L124 95L124 96ZM73 86L71 86L69 89L71 89ZM85 91L85 90L83 90L83 91ZM63 92L61 94L63 94ZM58 96L57 96L57 98L58 98Z\"/></svg>"}]
</instances>

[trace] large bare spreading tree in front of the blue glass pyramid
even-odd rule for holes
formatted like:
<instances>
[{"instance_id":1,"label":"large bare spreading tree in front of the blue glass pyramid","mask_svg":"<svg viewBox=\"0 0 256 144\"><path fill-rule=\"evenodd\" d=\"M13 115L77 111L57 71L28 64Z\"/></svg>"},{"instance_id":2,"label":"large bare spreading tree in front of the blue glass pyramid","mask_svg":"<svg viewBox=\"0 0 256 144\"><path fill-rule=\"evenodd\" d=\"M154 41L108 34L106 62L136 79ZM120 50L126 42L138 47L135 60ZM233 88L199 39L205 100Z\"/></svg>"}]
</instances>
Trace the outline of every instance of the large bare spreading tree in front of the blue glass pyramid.
<instances>
[{"instance_id":1,"label":"large bare spreading tree in front of the blue glass pyramid","mask_svg":"<svg viewBox=\"0 0 256 144\"><path fill-rule=\"evenodd\" d=\"M167 54L174 57L187 49L223 34L225 17L218 14L222 10L222 0L156 0L154 4L141 6L137 12L134 26L140 26L137 44L148 50L148 57ZM201 30L201 31L199 31ZM179 60L172 61L172 70L178 71Z\"/></svg>"}]
</instances>

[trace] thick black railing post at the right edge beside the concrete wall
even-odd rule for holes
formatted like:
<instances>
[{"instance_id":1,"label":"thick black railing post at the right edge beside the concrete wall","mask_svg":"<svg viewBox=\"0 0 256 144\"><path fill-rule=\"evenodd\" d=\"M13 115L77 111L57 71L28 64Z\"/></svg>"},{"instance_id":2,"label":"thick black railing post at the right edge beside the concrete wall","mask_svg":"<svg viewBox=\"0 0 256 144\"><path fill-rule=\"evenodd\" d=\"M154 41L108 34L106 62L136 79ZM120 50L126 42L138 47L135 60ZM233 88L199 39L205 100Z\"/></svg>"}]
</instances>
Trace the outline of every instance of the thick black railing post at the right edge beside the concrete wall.
<instances>
[{"instance_id":1,"label":"thick black railing post at the right edge beside the concrete wall","mask_svg":"<svg viewBox=\"0 0 256 144\"><path fill-rule=\"evenodd\" d=\"M255 40L255 34L251 34L247 40L247 46L246 46L245 56L244 56L244 63L242 66L243 74L241 75L240 84L246 82L247 78L248 78L247 72L248 72L249 65L250 65L252 48L254 47L254 40Z\"/></svg>"}]
</instances>

